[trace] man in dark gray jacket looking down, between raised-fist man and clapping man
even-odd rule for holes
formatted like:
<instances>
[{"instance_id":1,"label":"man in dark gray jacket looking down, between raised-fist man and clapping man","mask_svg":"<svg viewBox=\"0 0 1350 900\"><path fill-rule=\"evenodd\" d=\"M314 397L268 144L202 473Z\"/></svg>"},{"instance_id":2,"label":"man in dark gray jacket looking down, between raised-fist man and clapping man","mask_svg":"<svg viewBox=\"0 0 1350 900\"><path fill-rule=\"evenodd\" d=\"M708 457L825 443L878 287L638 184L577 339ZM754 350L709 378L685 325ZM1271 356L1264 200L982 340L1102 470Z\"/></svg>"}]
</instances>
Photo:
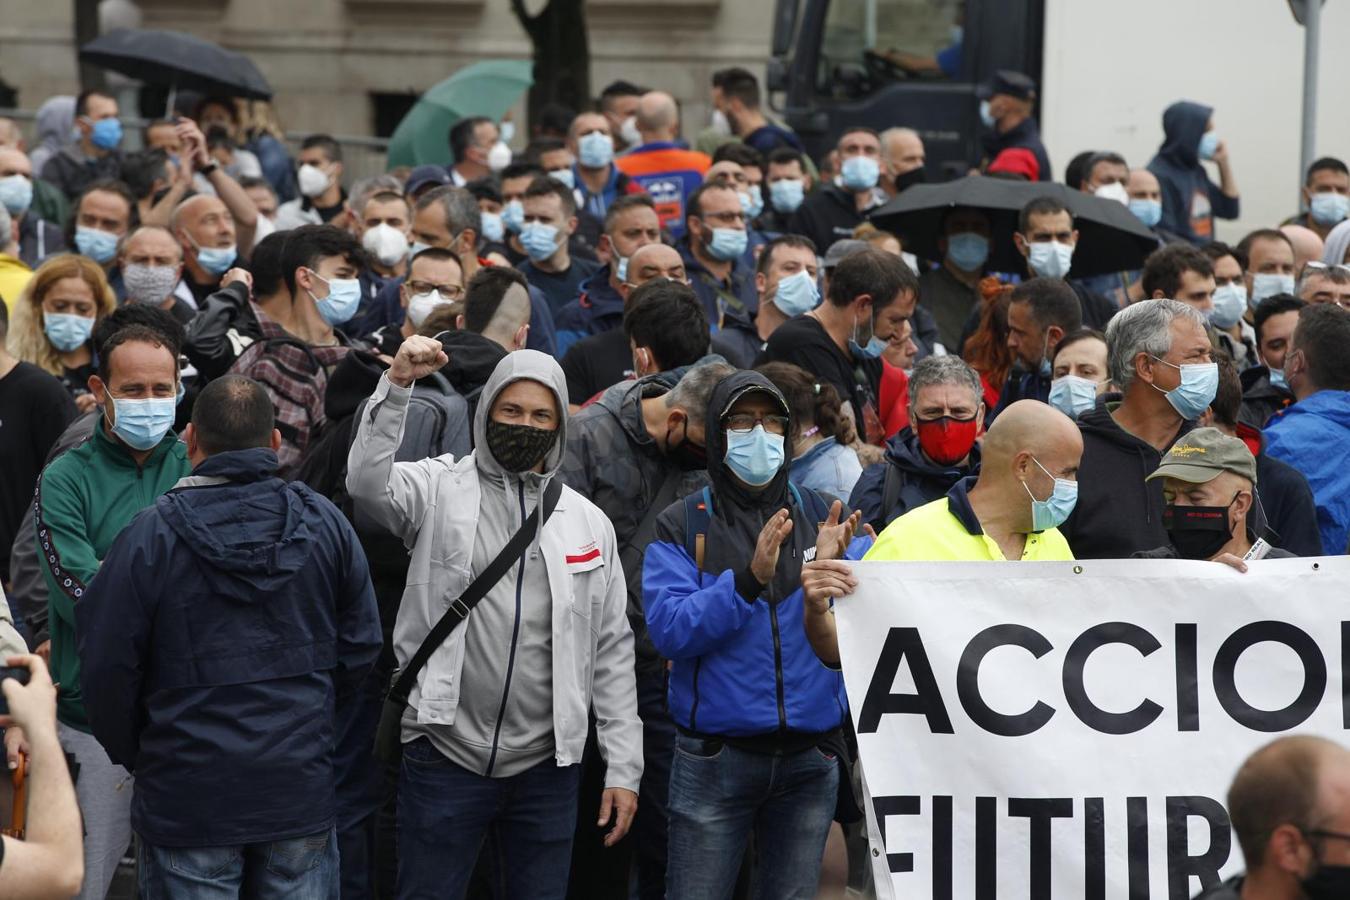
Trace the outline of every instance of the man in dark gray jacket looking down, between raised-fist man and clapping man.
<instances>
[{"instance_id":1,"label":"man in dark gray jacket looking down, between raised-fist man and clapping man","mask_svg":"<svg viewBox=\"0 0 1350 900\"><path fill-rule=\"evenodd\" d=\"M622 382L576 413L568 422L567 455L559 478L595 503L614 524L618 553L628 580L628 622L633 629L637 667L637 714L643 719L643 804L633 824L641 896L660 896L666 885L666 820L675 725L666 710L666 667L647 634L643 615L643 551L656 533L656 517L678 498L707 483L705 416L717 382L734 367L709 362ZM590 742L594 750L594 739ZM580 815L589 819L603 787L591 775L603 770L587 754L582 779ZM629 854L601 854L603 831L591 822L580 827L572 865L572 893L601 896L616 866ZM585 881L582 881L585 880ZM621 878L628 884L626 876ZM589 889L583 889L589 888Z\"/></svg>"}]
</instances>

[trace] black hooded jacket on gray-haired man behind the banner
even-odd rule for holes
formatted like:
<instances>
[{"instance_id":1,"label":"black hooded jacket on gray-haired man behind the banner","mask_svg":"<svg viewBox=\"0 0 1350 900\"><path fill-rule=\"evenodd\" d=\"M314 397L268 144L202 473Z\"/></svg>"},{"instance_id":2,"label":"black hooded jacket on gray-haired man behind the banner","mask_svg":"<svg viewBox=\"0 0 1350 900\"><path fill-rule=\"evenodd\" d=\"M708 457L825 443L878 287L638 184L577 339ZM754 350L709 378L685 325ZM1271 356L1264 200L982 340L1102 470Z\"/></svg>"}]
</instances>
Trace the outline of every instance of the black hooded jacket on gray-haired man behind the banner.
<instances>
[{"instance_id":1,"label":"black hooded jacket on gray-haired man behind the banner","mask_svg":"<svg viewBox=\"0 0 1350 900\"><path fill-rule=\"evenodd\" d=\"M1119 401L1119 394L1107 394L1079 417L1079 502L1060 533L1080 560L1123 560L1168 544L1162 479L1143 480L1162 461L1162 453L1115 424L1111 412ZM1192 428L1195 422L1181 422L1168 445Z\"/></svg>"}]
</instances>

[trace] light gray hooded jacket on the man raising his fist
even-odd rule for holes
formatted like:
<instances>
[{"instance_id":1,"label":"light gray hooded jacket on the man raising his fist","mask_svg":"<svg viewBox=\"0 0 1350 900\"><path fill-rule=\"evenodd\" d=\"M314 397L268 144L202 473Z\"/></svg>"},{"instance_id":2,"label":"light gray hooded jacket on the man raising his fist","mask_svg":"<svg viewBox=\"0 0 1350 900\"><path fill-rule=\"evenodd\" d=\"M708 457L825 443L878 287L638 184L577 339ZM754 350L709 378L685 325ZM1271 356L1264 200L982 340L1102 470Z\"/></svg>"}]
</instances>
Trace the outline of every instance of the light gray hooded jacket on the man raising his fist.
<instances>
[{"instance_id":1,"label":"light gray hooded jacket on the man raising his fist","mask_svg":"<svg viewBox=\"0 0 1350 900\"><path fill-rule=\"evenodd\" d=\"M379 381L356 425L347 490L362 511L410 551L394 625L398 664L497 556L562 464L566 416L544 472L512 474L487 447L487 416L512 382L536 381L567 409L558 363L517 351L498 363L474 417L477 449L394 463L409 389ZM428 737L458 765L506 777L554 757L580 761L595 712L605 787L637 791L643 726L637 718L633 634L625 580L609 519L564 487L558 507L510 573L431 656L404 718L404 741Z\"/></svg>"}]
</instances>

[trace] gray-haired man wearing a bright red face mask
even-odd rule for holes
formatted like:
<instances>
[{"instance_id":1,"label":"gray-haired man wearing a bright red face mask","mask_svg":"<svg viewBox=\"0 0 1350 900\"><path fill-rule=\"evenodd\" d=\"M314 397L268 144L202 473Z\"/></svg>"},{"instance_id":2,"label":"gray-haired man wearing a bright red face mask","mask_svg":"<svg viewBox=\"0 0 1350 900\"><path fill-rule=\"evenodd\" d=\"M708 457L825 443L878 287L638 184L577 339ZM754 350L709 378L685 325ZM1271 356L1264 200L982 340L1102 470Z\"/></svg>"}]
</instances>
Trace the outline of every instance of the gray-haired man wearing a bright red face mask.
<instances>
[{"instance_id":1,"label":"gray-haired man wearing a bright red face mask","mask_svg":"<svg viewBox=\"0 0 1350 900\"><path fill-rule=\"evenodd\" d=\"M886 459L869 466L848 505L878 534L913 509L945 495L980 471L984 391L959 356L929 356L910 375L910 424L886 443Z\"/></svg>"}]
</instances>

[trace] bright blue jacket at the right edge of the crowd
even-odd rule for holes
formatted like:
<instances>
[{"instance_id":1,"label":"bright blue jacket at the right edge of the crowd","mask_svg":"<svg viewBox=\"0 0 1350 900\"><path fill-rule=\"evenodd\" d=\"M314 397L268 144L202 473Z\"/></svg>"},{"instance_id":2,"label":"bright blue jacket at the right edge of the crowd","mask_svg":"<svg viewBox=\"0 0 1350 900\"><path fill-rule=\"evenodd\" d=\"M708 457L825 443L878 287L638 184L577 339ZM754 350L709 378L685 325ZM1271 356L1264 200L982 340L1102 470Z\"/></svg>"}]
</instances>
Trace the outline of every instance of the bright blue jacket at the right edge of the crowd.
<instances>
[{"instance_id":1,"label":"bright blue jacket at the right edge of the crowd","mask_svg":"<svg viewBox=\"0 0 1350 900\"><path fill-rule=\"evenodd\" d=\"M1277 413L1266 453L1303 472L1318 505L1322 552L1341 556L1350 540L1350 468L1330 447L1350 444L1350 391L1323 390ZM1258 484L1260 488L1260 484Z\"/></svg>"}]
</instances>

